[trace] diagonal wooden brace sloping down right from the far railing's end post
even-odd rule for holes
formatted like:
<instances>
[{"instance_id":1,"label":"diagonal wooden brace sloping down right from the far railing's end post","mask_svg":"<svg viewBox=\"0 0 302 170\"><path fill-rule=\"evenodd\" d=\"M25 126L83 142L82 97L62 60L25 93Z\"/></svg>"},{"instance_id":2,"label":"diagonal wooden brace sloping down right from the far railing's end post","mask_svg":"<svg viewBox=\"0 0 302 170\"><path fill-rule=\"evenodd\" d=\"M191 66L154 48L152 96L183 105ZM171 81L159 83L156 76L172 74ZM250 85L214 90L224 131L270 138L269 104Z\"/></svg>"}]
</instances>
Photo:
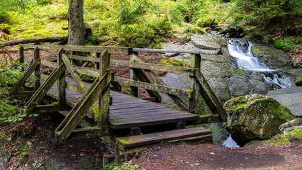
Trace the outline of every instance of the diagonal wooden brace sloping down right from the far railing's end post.
<instances>
[{"instance_id":1,"label":"diagonal wooden brace sloping down right from the far railing's end post","mask_svg":"<svg viewBox=\"0 0 302 170\"><path fill-rule=\"evenodd\" d=\"M221 116L222 120L226 122L227 120L226 111L224 111L218 98L211 90L211 87L207 83L207 80L204 79L204 76L202 75L201 72L197 72L196 78L200 86L199 92L200 94L202 94L202 97L204 98L204 101L209 106L211 112L214 114L218 113Z\"/></svg>"}]
</instances>

